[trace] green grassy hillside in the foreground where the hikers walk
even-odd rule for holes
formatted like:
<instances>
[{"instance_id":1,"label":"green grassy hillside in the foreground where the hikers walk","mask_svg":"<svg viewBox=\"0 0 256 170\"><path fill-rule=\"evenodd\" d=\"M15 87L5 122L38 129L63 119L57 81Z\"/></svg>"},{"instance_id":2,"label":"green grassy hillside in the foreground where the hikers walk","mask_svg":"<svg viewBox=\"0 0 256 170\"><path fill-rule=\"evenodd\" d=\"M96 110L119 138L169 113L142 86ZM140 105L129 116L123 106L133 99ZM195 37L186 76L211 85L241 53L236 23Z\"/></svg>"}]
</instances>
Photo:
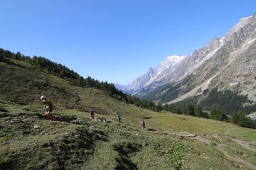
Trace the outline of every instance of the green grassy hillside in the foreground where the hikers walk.
<instances>
[{"instance_id":1,"label":"green grassy hillside in the foreground where the hikers walk","mask_svg":"<svg viewBox=\"0 0 256 170\"><path fill-rule=\"evenodd\" d=\"M256 130L138 108L25 62L0 62L0 72L0 169L256 169ZM91 109L113 121L91 121Z\"/></svg>"}]
</instances>

